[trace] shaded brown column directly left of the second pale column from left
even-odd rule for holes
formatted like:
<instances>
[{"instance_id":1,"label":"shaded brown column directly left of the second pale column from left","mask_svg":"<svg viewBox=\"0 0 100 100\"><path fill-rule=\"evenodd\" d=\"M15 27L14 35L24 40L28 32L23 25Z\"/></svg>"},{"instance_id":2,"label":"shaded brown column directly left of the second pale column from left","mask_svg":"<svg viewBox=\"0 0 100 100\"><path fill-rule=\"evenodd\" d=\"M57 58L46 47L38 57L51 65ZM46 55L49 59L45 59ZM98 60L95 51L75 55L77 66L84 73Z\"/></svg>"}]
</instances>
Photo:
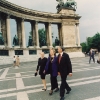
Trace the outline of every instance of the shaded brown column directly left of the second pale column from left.
<instances>
[{"instance_id":1,"label":"shaded brown column directly left of the second pale column from left","mask_svg":"<svg viewBox=\"0 0 100 100\"><path fill-rule=\"evenodd\" d=\"M22 29L21 29L21 19L16 19L17 24L17 36L19 40L19 46L22 47Z\"/></svg>"}]
</instances>

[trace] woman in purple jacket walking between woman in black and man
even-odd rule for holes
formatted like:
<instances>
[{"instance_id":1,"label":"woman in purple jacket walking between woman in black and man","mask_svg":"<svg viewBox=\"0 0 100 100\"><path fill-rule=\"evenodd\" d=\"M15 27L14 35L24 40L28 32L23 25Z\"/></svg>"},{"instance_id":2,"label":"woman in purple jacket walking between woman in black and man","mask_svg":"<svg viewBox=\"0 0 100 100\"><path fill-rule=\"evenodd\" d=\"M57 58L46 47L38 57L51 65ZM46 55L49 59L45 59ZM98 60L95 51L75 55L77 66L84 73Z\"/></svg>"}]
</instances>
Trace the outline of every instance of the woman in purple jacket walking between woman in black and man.
<instances>
[{"instance_id":1,"label":"woman in purple jacket walking between woman in black and man","mask_svg":"<svg viewBox=\"0 0 100 100\"><path fill-rule=\"evenodd\" d=\"M57 57L55 55L55 50L50 50L50 56L48 57L47 64L45 66L44 73L46 73L49 70L50 72L50 81L51 81L51 91L49 95L53 94L53 90L55 89L55 92L59 90L58 88L58 82L57 82Z\"/></svg>"}]
</instances>

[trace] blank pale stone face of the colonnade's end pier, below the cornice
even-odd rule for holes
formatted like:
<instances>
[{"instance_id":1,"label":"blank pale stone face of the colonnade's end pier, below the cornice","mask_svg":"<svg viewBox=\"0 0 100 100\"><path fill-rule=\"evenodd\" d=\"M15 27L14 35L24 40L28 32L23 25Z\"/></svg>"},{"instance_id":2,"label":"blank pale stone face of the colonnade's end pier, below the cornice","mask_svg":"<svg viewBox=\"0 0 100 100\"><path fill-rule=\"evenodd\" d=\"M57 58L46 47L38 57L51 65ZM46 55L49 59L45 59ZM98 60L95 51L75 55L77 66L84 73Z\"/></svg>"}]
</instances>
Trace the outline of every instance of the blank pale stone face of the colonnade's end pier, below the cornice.
<instances>
[{"instance_id":1,"label":"blank pale stone face of the colonnade's end pier, below the cornice","mask_svg":"<svg viewBox=\"0 0 100 100\"><path fill-rule=\"evenodd\" d=\"M75 23L62 22L63 47L76 46Z\"/></svg>"}]
</instances>

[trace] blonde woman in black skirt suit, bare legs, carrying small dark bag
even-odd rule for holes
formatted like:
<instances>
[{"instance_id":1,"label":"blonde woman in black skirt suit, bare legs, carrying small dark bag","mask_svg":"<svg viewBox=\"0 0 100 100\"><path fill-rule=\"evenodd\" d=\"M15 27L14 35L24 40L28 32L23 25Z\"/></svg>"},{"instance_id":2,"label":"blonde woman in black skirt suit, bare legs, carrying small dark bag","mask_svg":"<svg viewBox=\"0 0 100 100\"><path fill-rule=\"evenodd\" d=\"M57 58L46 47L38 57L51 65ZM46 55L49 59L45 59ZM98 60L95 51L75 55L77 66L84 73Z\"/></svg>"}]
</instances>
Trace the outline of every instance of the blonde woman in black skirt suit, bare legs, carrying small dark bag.
<instances>
[{"instance_id":1,"label":"blonde woman in black skirt suit, bare legs, carrying small dark bag","mask_svg":"<svg viewBox=\"0 0 100 100\"><path fill-rule=\"evenodd\" d=\"M37 69L36 69L36 75L38 73L38 70L39 70L39 75L42 79L42 83L44 85L44 88L42 90L46 91L46 81L45 81L45 74L43 73L44 71L44 68L46 66L46 62L47 62L47 58L44 57L44 52L41 52L40 53L41 57L38 59L38 65L37 65Z\"/></svg>"}]
</instances>

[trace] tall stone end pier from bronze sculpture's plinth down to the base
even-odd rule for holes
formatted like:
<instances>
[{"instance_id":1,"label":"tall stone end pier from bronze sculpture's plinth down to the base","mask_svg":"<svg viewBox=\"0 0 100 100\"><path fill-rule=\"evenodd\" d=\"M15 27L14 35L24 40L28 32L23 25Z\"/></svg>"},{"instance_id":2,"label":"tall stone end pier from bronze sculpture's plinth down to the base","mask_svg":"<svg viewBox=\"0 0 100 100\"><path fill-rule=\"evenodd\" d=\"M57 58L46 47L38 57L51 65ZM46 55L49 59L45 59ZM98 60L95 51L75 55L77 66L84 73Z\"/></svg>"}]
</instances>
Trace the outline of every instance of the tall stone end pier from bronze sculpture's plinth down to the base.
<instances>
[{"instance_id":1,"label":"tall stone end pier from bronze sculpture's plinth down to the base","mask_svg":"<svg viewBox=\"0 0 100 100\"><path fill-rule=\"evenodd\" d=\"M58 26L59 33L61 30L62 39L62 46L63 47L75 47L76 46L76 31L75 31L75 11L73 9L64 8L59 13L62 15L70 16L70 19L62 19L61 26ZM72 18L73 17L73 18Z\"/></svg>"}]
</instances>

